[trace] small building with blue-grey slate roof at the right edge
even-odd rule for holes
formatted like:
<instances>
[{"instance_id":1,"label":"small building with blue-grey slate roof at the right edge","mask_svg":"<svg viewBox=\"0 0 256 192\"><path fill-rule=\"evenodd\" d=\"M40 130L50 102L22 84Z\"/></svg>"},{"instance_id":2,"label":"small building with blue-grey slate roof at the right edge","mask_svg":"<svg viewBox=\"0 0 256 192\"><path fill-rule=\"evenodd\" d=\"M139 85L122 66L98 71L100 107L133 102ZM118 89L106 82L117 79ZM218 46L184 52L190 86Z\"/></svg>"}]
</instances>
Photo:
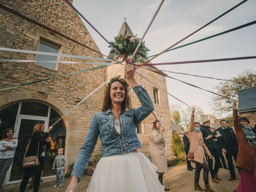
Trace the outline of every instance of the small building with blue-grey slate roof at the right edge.
<instances>
[{"instance_id":1,"label":"small building with blue-grey slate roof at the right edge","mask_svg":"<svg viewBox=\"0 0 256 192\"><path fill-rule=\"evenodd\" d=\"M256 87L238 91L238 111L249 119L251 127L256 125Z\"/></svg>"}]
</instances>

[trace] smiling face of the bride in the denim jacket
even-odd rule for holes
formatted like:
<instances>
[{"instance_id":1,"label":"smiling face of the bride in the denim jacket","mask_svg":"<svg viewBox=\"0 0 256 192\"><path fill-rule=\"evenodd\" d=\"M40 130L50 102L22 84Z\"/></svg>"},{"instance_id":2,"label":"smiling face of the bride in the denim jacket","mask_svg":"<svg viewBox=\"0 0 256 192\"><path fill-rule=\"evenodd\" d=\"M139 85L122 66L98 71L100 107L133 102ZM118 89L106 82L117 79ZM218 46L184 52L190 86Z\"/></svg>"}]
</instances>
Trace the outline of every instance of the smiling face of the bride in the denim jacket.
<instances>
[{"instance_id":1,"label":"smiling face of the bride in the denim jacket","mask_svg":"<svg viewBox=\"0 0 256 192\"><path fill-rule=\"evenodd\" d=\"M118 82L115 81L110 86L110 98L112 103L115 104L122 104L125 98L125 89L124 86Z\"/></svg>"}]
</instances>

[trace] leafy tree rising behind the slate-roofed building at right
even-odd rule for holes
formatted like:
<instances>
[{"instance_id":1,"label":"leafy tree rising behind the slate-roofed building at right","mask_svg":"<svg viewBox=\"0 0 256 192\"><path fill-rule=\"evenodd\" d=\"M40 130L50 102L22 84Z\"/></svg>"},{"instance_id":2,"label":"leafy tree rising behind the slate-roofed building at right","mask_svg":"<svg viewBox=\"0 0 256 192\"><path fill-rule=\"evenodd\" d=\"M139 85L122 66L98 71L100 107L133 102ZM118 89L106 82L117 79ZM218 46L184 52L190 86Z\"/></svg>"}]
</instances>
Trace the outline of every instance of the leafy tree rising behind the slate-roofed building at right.
<instances>
[{"instance_id":1,"label":"leafy tree rising behind the slate-roofed building at right","mask_svg":"<svg viewBox=\"0 0 256 192\"><path fill-rule=\"evenodd\" d=\"M231 78L231 80L237 82L247 82L250 84L237 83L237 82L222 82L219 86L215 88L218 89L218 94L227 96L233 100L238 100L238 91L246 88L251 88L256 86L256 72L252 70L245 70L237 77ZM232 111L233 101L224 98L222 96L214 95L212 97L212 110L217 114L221 115Z\"/></svg>"}]
</instances>

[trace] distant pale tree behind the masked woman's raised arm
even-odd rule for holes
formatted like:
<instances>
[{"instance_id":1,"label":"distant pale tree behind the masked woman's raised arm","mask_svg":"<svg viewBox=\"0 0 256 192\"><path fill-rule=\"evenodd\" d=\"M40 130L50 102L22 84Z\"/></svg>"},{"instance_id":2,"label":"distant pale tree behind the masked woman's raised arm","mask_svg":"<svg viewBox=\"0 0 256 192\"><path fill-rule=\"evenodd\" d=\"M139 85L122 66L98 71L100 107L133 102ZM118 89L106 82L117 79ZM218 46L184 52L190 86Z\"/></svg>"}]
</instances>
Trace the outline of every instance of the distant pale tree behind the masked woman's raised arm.
<instances>
[{"instance_id":1,"label":"distant pale tree behind the masked woman's raised arm","mask_svg":"<svg viewBox=\"0 0 256 192\"><path fill-rule=\"evenodd\" d=\"M192 106L192 107L195 108L195 121L200 121L202 116L206 116L202 108L200 108L199 106ZM184 108L180 111L182 125L186 128L188 128L190 123L191 112L192 112L192 108L190 107Z\"/></svg>"}]
</instances>

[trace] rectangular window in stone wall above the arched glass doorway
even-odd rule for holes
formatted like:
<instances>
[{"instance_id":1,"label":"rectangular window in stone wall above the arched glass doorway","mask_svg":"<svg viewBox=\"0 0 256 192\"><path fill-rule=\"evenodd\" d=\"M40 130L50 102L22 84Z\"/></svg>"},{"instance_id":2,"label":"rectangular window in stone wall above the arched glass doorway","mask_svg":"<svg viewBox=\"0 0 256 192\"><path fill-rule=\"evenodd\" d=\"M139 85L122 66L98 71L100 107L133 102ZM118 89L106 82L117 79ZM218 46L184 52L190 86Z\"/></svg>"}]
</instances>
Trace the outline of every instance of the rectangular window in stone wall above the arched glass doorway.
<instances>
[{"instance_id":1,"label":"rectangular window in stone wall above the arched glass doorway","mask_svg":"<svg viewBox=\"0 0 256 192\"><path fill-rule=\"evenodd\" d=\"M40 42L38 44L38 51L41 52L50 52L50 53L58 53L60 49L60 45L51 42L49 40L40 38ZM44 61L57 61L58 56L50 56L50 55L36 55L36 65L40 65L49 69L56 70L57 69L57 64L56 63L48 63Z\"/></svg>"}]
</instances>

